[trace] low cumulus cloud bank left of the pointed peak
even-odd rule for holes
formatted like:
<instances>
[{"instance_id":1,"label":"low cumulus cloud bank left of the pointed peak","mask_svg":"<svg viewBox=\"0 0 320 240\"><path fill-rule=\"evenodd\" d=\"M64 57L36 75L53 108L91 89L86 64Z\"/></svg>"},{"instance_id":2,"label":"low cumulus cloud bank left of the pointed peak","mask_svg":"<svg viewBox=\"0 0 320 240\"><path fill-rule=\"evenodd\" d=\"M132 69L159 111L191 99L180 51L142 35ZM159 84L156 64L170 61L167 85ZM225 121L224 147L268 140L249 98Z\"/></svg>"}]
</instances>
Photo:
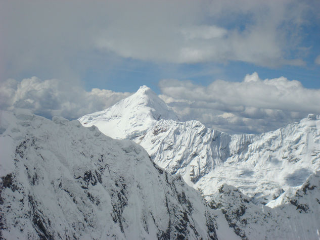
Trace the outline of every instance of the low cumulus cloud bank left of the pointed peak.
<instances>
[{"instance_id":1,"label":"low cumulus cloud bank left of the pointed peak","mask_svg":"<svg viewBox=\"0 0 320 240\"><path fill-rule=\"evenodd\" d=\"M98 88L85 91L58 79L8 79L0 84L0 109L25 108L47 118L57 115L76 119L108 108L129 95Z\"/></svg>"}]
</instances>

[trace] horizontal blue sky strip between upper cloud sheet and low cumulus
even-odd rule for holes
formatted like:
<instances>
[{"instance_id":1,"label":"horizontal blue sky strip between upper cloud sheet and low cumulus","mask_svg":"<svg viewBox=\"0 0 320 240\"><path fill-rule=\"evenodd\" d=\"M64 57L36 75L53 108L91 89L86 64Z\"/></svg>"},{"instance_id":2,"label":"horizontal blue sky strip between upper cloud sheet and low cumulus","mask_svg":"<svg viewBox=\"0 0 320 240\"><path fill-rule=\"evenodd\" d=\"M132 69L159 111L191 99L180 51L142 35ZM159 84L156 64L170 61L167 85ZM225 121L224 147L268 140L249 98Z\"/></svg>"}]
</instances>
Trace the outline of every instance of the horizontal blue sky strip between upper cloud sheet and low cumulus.
<instances>
[{"instance_id":1,"label":"horizontal blue sky strip between upper cloud sheet and low cumulus","mask_svg":"<svg viewBox=\"0 0 320 240\"><path fill-rule=\"evenodd\" d=\"M87 90L93 87L106 88L108 86L115 91L135 91L138 85L148 85L160 94L158 82L161 79L192 80L207 85L216 79L242 81L247 73L255 71L262 79L286 76L288 79L300 81L306 88L320 88L320 67L314 63L301 67L266 68L234 61L227 64L201 63L166 66L165 64L127 60L113 69L87 70L84 82Z\"/></svg>"}]
</instances>

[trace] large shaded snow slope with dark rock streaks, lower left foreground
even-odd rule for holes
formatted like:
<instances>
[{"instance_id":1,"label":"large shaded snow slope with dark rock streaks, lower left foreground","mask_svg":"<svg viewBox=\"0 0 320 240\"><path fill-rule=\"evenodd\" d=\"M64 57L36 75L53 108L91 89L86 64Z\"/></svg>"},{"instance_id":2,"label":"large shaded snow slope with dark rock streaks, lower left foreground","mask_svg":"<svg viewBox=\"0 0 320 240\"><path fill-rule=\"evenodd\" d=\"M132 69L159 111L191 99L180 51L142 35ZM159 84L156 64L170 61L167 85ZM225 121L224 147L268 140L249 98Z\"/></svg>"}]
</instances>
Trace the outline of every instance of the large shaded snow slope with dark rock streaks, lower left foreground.
<instances>
[{"instance_id":1,"label":"large shaded snow slope with dark rock streaks, lower left foreground","mask_svg":"<svg viewBox=\"0 0 320 240\"><path fill-rule=\"evenodd\" d=\"M0 116L0 238L216 238L213 210L134 142L58 117Z\"/></svg>"}]
</instances>

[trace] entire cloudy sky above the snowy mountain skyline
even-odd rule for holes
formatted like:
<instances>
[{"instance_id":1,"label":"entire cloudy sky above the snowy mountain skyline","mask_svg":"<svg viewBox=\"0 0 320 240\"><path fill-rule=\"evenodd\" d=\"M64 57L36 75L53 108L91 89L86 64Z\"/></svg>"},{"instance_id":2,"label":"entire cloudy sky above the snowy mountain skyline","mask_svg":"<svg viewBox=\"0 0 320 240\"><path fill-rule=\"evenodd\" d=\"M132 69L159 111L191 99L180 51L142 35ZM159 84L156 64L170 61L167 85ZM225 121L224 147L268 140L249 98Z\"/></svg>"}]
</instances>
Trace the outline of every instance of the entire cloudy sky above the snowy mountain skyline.
<instances>
[{"instance_id":1,"label":"entire cloudy sky above the snowy mountain skyline","mask_svg":"<svg viewBox=\"0 0 320 240\"><path fill-rule=\"evenodd\" d=\"M180 95L183 99L175 102L172 98L178 94L172 91L175 86L170 86L171 82L185 84L183 87L192 83L193 87L205 89L219 79L226 83L243 83L247 74L255 72L258 74L255 79L260 83L264 79L281 82L280 77L284 76L288 81L283 84L287 84L288 91L292 91L291 80L301 83L294 89L299 88L306 94L303 97L299 92L300 101L305 104L310 104L306 100L310 95L307 89L314 89L316 97L320 89L320 2L316 0L0 2L0 80L3 91L10 92L12 98L11 102L2 100L6 108L20 105L35 108L39 105L35 104L37 101L48 102L39 99L39 95L36 100L30 99L30 95L35 96L30 91L37 91L32 87L41 84L43 87L48 79L58 79L62 85L67 84L67 88L81 89L87 94L94 94L93 88L111 90L117 97L109 99L109 104L121 99L121 92L134 92L139 86L148 85L175 106L184 120L196 118L226 131L227 124L238 124L238 130L232 131L259 132L262 131L259 128L272 129L298 120L307 110L290 112L291 107L284 103L293 101L291 95L278 83L275 86L279 96L287 96L283 105L268 105L271 108L268 109L262 105L246 105L247 101L239 102L244 109L254 107L263 112L250 117L248 112L239 115L239 110L234 112L230 106L218 110L205 107L205 104L219 103L218 100L206 102L198 98L191 101L188 96ZM30 80L32 76L38 80ZM15 83L9 84L7 79L10 78L15 79ZM23 79L32 83L21 84ZM168 85L164 86L164 82ZM269 84L268 81L263 83ZM18 90L22 86L28 87ZM60 94L55 88L46 92L47 95L41 95L43 98L53 92L56 95L50 95L49 99ZM102 93L99 94L101 97ZM104 101L106 96L111 98L111 93L106 94L102 98ZM126 95L123 93L122 97ZM102 99L97 105L91 103L94 107L86 111L108 107L102 104ZM191 105L178 109L177 103L181 101L202 103L206 110L193 113ZM55 113L59 112L56 108L65 106L63 98L58 102L60 107L53 107ZM259 101L252 99L251 102ZM320 114L316 106L308 111ZM48 111L41 109L39 112ZM62 112L65 117L74 118L81 111L70 111L70 115ZM205 112L211 115L208 117ZM222 126L220 120L232 118L231 114L236 117ZM220 117L217 119L217 116ZM272 117L276 119L275 124L264 127ZM248 126L251 120L257 122L256 119L261 121L260 125L253 130L250 127L243 130L242 125Z\"/></svg>"}]
</instances>

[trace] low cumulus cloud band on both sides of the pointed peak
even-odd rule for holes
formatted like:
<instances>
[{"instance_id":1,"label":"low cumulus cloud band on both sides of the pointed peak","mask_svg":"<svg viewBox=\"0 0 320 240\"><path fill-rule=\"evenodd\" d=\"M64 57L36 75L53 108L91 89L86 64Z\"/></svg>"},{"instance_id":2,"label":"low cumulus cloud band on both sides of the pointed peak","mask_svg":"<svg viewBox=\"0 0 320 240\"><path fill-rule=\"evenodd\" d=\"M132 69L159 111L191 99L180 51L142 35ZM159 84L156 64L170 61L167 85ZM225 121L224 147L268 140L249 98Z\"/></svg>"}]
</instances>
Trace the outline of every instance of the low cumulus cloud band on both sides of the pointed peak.
<instances>
[{"instance_id":1,"label":"low cumulus cloud band on both sides of the pointed peak","mask_svg":"<svg viewBox=\"0 0 320 240\"><path fill-rule=\"evenodd\" d=\"M199 120L230 133L259 133L320 114L320 89L307 89L285 77L260 79L247 74L241 82L213 81L208 86L174 79L159 82L160 97L182 121ZM76 119L106 109L131 93L94 88L85 91L58 79L37 77L0 84L0 109L31 109L35 114Z\"/></svg>"}]
</instances>

